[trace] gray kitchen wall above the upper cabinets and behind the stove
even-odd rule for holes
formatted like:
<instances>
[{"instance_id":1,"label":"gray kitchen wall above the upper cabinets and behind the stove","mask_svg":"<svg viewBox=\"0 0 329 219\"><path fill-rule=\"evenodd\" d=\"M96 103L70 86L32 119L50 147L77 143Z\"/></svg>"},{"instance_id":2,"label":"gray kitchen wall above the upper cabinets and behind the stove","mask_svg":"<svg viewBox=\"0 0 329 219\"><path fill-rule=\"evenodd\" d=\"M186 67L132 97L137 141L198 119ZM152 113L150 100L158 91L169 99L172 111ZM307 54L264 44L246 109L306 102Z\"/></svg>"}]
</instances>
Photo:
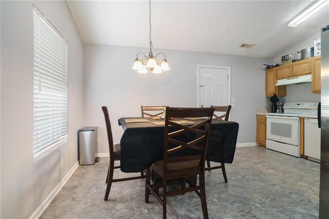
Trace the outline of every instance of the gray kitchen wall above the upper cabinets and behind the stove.
<instances>
[{"instance_id":1,"label":"gray kitchen wall above the upper cabinets and behind the stove","mask_svg":"<svg viewBox=\"0 0 329 219\"><path fill-rule=\"evenodd\" d=\"M282 64L281 57L287 54L295 55L295 59L300 59L300 51L308 47L314 47L314 39L320 38L320 32L312 37L306 39L306 41L298 44L297 46L288 49L278 57L276 57L275 63ZM309 102L320 102L321 94L312 93L311 83L288 85L287 96L279 97L281 102L295 102L295 101L309 101Z\"/></svg>"}]
</instances>

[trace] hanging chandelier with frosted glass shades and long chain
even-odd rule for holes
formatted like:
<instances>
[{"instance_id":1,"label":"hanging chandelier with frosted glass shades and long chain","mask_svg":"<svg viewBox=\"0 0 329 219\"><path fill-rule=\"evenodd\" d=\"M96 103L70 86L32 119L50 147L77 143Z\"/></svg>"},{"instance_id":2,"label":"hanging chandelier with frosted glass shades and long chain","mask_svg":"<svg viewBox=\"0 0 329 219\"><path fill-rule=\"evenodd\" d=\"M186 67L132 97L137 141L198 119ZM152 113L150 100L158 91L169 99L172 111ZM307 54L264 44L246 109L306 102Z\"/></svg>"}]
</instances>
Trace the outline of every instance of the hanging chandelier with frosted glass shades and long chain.
<instances>
[{"instance_id":1,"label":"hanging chandelier with frosted glass shades and long chain","mask_svg":"<svg viewBox=\"0 0 329 219\"><path fill-rule=\"evenodd\" d=\"M156 54L155 56L152 53L152 49L153 49L153 45L152 45L152 40L151 40L151 0L150 0L150 52L149 52L149 56L146 56L144 53L142 52L138 52L137 53L137 57L135 59L134 65L133 65L133 69L137 70L138 73L148 73L149 71L151 71L154 74L159 74L162 73L162 71L167 71L170 70L167 59L166 59L166 55L163 54L162 52L159 52L158 54ZM138 55L143 55L141 57L141 59L138 58ZM159 59L159 56L163 55L163 59ZM161 62L160 62L161 60ZM160 65L159 65L160 64Z\"/></svg>"}]
</instances>

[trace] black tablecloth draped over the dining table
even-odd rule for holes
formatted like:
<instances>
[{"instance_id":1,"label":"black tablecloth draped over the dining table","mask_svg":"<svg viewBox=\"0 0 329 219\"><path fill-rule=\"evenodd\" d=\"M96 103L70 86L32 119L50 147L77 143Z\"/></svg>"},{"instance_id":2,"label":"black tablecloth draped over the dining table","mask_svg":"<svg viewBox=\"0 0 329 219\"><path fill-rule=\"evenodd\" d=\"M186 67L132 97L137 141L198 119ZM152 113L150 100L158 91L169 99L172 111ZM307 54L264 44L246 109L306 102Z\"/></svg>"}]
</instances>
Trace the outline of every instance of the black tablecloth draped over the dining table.
<instances>
[{"instance_id":1,"label":"black tablecloth draped over the dining table","mask_svg":"<svg viewBox=\"0 0 329 219\"><path fill-rule=\"evenodd\" d=\"M140 172L163 158L164 126L149 123L118 123L124 133L121 137L122 172ZM149 119L153 121L152 118ZM233 162L239 124L213 120L208 142L207 160L218 163Z\"/></svg>"}]
</instances>

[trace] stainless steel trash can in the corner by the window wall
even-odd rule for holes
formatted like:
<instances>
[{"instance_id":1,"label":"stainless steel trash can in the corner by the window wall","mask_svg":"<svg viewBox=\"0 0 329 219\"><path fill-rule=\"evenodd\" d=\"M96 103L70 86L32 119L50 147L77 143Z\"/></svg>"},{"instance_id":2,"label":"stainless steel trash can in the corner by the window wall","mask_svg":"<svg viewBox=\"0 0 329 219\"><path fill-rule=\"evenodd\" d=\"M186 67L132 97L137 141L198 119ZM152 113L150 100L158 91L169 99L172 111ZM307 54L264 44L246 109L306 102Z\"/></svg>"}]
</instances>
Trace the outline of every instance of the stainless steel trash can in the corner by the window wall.
<instances>
[{"instance_id":1,"label":"stainless steel trash can in the corner by the window wall","mask_svg":"<svg viewBox=\"0 0 329 219\"><path fill-rule=\"evenodd\" d=\"M97 127L84 127L78 132L79 165L91 165L98 161Z\"/></svg>"}]
</instances>

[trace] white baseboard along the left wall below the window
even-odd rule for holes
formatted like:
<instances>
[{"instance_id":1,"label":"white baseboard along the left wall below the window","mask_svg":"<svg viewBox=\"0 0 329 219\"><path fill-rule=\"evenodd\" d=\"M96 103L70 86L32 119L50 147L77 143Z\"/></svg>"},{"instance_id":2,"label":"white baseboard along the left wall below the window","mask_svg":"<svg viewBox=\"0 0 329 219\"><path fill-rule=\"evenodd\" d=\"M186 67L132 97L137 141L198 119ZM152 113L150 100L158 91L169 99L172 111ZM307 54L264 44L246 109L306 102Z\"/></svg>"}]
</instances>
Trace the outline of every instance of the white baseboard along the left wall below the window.
<instances>
[{"instance_id":1,"label":"white baseboard along the left wall below the window","mask_svg":"<svg viewBox=\"0 0 329 219\"><path fill-rule=\"evenodd\" d=\"M42 213L47 209L47 207L50 205L52 200L56 197L56 195L61 191L65 183L68 181L68 179L71 177L71 175L76 171L76 169L79 167L79 163L75 163L73 167L66 173L64 178L62 178L61 182L50 192L50 194L46 197L46 199L41 203L38 209L36 209L33 214L29 217L32 218L39 218Z\"/></svg>"}]
</instances>

